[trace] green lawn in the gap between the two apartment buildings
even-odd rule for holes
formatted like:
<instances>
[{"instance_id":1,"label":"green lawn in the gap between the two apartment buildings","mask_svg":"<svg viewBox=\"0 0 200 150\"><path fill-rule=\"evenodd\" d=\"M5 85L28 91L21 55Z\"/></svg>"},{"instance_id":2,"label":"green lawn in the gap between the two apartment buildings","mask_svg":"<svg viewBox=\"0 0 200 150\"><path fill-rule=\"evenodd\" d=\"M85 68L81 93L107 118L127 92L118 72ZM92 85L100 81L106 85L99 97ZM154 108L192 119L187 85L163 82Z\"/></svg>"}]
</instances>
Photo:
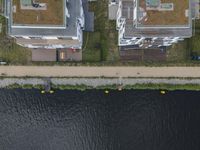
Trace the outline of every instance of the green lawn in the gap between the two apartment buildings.
<instances>
[{"instance_id":1,"label":"green lawn in the gap between the two apartment buildings","mask_svg":"<svg viewBox=\"0 0 200 150\"><path fill-rule=\"evenodd\" d=\"M83 61L116 61L119 59L115 21L108 20L108 0L90 2L90 11L95 13L95 32L85 33Z\"/></svg>"}]
</instances>

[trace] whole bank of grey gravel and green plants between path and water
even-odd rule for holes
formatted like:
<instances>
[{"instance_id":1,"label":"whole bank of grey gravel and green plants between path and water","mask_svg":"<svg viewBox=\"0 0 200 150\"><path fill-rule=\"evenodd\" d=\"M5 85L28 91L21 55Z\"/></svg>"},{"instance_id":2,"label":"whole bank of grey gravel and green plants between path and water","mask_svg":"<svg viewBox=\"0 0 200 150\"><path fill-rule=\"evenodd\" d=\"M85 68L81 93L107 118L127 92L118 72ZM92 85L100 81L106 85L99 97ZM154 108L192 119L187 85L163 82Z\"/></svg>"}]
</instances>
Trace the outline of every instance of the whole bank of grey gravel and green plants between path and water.
<instances>
[{"instance_id":1,"label":"whole bank of grey gravel and green plants between path and water","mask_svg":"<svg viewBox=\"0 0 200 150\"><path fill-rule=\"evenodd\" d=\"M185 89L200 90L200 79L164 78L51 78L56 89ZM44 78L2 78L0 88L42 88Z\"/></svg>"}]
</instances>

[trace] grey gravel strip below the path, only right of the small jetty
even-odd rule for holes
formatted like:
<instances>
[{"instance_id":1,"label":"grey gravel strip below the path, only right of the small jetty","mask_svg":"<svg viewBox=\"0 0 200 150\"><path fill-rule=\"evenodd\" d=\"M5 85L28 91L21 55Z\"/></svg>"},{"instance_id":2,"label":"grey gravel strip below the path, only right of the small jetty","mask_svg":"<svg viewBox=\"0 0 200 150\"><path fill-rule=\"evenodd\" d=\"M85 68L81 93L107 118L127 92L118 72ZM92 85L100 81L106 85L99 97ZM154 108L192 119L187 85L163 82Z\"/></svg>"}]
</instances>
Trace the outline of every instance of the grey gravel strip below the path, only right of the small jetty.
<instances>
[{"instance_id":1,"label":"grey gravel strip below the path, only right of the small jetty","mask_svg":"<svg viewBox=\"0 0 200 150\"><path fill-rule=\"evenodd\" d=\"M200 84L200 79L155 79L155 78L53 78L52 83L55 85L88 85L92 87L123 84L147 84L147 83L164 83L164 84Z\"/></svg>"}]
</instances>

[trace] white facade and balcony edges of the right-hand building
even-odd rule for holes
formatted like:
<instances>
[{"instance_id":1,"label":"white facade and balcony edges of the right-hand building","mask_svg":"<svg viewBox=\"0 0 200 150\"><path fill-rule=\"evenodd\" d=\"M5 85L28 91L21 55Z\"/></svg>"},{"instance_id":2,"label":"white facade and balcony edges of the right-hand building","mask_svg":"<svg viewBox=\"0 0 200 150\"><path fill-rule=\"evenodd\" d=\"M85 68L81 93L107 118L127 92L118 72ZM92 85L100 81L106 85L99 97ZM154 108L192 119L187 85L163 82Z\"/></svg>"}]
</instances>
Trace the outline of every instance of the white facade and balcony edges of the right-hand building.
<instances>
[{"instance_id":1,"label":"white facade and balcony edges of the right-hand building","mask_svg":"<svg viewBox=\"0 0 200 150\"><path fill-rule=\"evenodd\" d=\"M137 2L138 0L133 0L133 17L132 17L132 28L137 29L137 16L138 16L138 11L137 11ZM117 10L117 19L116 19L116 28L118 30L118 45L119 46L128 46L128 45L137 45L138 47L142 47L142 48L150 48L150 47L161 47L161 46L170 46L174 43L177 43L178 41L183 40L184 38L190 37L190 35L188 34L188 36L183 36L180 34L177 35L168 35L164 37L162 35L151 35L151 36L147 36L147 34L145 34L145 29L148 27L142 27L144 29L144 34L138 35L138 34L132 34L132 36L126 36L125 32L126 31L126 24L127 24L127 18L122 16L122 11L123 11L123 0L119 0L118 3L118 10ZM193 9L193 8L191 8ZM191 11L191 10L189 10ZM190 14L190 13L189 13ZM191 15L191 14L190 14ZM129 16L128 16L129 17ZM195 19L195 18L191 18L191 19ZM130 22L130 20L129 20ZM191 20L192 22L192 20ZM192 25L191 25L192 26ZM140 29L140 31L142 31L143 29ZM156 29L158 27L151 27L154 31L156 31ZM167 27L161 27L163 29L166 29ZM189 31L191 27L169 27L169 31L172 29L174 30L175 28L187 28L187 30ZM128 30L128 29L127 29ZM184 29L183 29L184 31ZM192 29L191 29L192 32Z\"/></svg>"}]
</instances>

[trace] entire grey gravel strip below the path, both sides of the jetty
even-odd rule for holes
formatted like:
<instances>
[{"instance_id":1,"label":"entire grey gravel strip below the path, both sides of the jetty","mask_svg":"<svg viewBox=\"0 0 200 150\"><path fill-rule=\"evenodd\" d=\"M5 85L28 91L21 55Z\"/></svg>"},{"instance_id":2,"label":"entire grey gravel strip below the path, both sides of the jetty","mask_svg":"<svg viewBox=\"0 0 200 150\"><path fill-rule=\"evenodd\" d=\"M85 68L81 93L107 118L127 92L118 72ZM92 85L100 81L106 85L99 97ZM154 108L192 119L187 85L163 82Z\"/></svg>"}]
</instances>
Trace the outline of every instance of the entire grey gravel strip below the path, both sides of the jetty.
<instances>
[{"instance_id":1,"label":"entire grey gravel strip below the path, both sides of the jetty","mask_svg":"<svg viewBox=\"0 0 200 150\"><path fill-rule=\"evenodd\" d=\"M44 85L43 78L4 78L0 79L0 88L8 87L9 85ZM147 83L164 83L164 84L200 84L200 79L155 79L155 78L51 78L51 83L54 85L87 85L92 87L104 85L134 85Z\"/></svg>"}]
</instances>

